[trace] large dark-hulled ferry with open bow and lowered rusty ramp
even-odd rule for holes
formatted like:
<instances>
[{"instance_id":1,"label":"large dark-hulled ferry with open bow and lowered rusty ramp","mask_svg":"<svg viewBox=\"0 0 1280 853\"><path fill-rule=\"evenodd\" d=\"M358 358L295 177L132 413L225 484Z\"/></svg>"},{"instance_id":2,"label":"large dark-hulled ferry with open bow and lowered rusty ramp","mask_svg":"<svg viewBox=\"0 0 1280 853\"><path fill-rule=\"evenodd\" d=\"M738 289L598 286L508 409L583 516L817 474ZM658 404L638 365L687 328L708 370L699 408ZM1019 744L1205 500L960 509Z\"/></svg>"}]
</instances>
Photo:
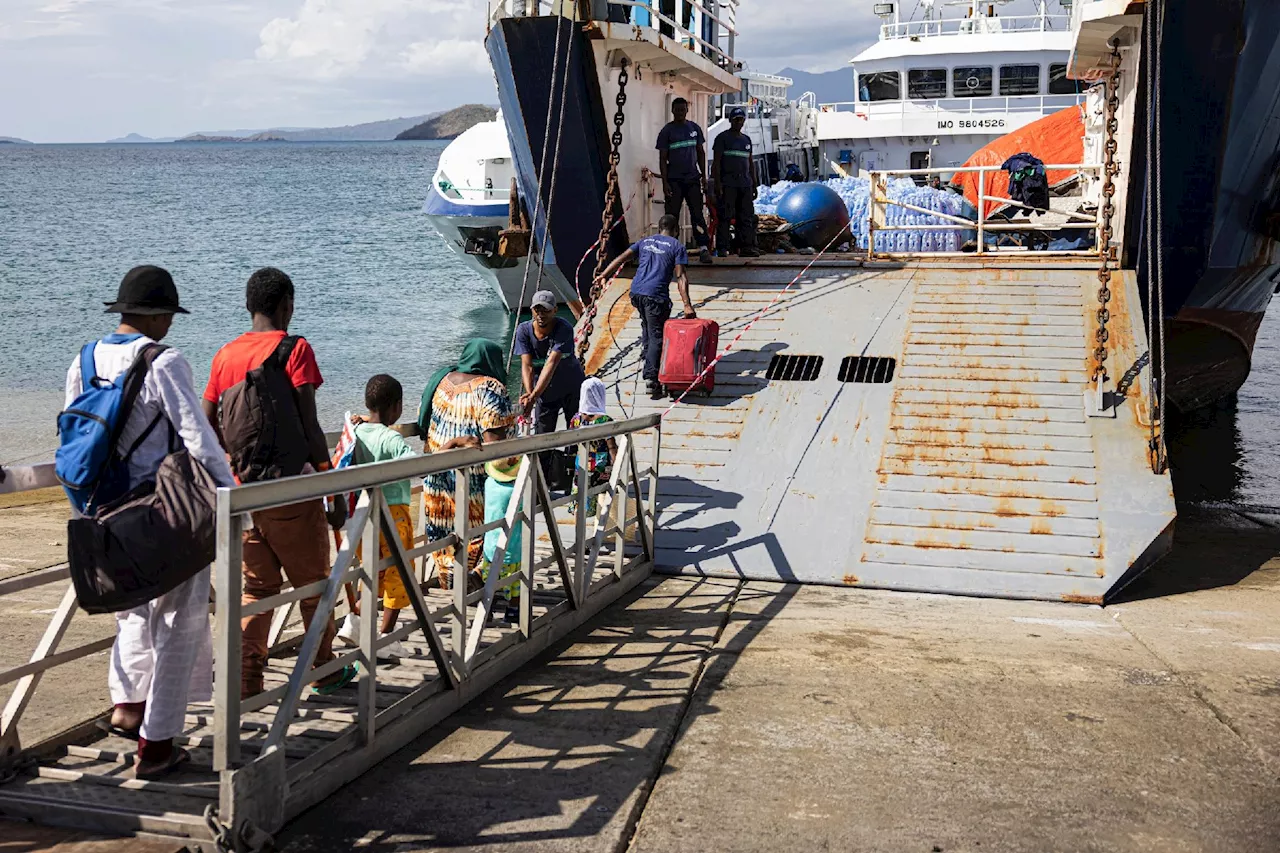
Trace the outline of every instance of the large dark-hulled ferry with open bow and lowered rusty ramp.
<instances>
[{"instance_id":1,"label":"large dark-hulled ferry with open bow and lowered rusty ramp","mask_svg":"<svg viewBox=\"0 0 1280 853\"><path fill-rule=\"evenodd\" d=\"M1139 156L1148 138L1143 56L1164 56L1158 85L1176 92L1166 105L1185 100L1174 82L1179 76L1211 59L1228 65L1204 78L1203 87L1211 104L1230 106L1239 97L1236 81L1248 97L1247 78L1270 79L1280 67L1271 61L1276 13L1239 0L1225 18L1215 18L1216 6L1192 13L1196 4L1179 0L1169 4L1171 19L1190 15L1202 32L1226 35L1144 47L1143 26L1153 13L1140 3L1076 4L1069 28L1043 5L1027 26L997 17L995 4L966 5L966 18L955 24L932 18L886 23L884 37L859 58L858 73L896 69L906 83L896 100L863 99L896 115L877 119L877 127L897 131L868 138L909 140L916 133L902 129L915 120L928 124L918 136L938 136L940 146L943 136L980 132L951 140L961 147L948 150L945 165L936 146L919 169L910 169L920 160L906 147L900 164L861 158L858 168L869 175L869 231L975 228L975 252L891 255L873 240L865 252L828 250L809 263L773 256L695 265L690 279L699 316L718 320L722 341L730 343L712 396L675 406L649 401L639 387L632 346L639 328L626 283L598 295L603 329L584 329L591 333L589 371L612 386L622 414L666 415L663 498L666 511L686 524L666 530L662 569L1102 602L1169 548L1175 511L1162 419L1175 398L1183 356L1176 334L1161 337L1162 318L1176 318L1189 293L1174 286L1171 270L1181 263L1174 259L1167 228L1160 243L1164 291L1139 263L1143 213L1156 209L1146 204L1152 178ZM644 205L637 210L631 200L650 196L650 151L671 100L689 100L694 117L712 115L741 88L732 53L737 6L690 1L664 14L632 0L579 5L577 17L531 12L499 5L486 37L504 114L522 117L509 128L521 191L525 197L543 193L548 237L562 256L581 257L602 220L617 222L605 250L616 254L652 231ZM892 6L887 12L896 15ZM1114 32L1098 36L1108 27ZM1254 38L1226 37L1248 32ZM984 50L975 49L979 44ZM913 55L928 60L916 64ZM873 65L874 56L883 64ZM1001 77L1007 68L1032 65L1034 73ZM1028 252L1018 241L988 245L984 233L1060 224L989 220L987 202L998 202L992 181L1002 174L1000 167L951 161L1012 123L1044 115L1055 106L1050 97L1078 108L1078 93L1050 95L1050 85L1062 77L1073 87L1100 81L1105 87L1097 99L1103 114L1088 122L1102 137L1083 146L1094 152L1092 161L1055 164L1092 184L1092 213L1082 205L1068 215L1078 227L1088 222L1096 247ZM987 97L1000 99L1005 109L1004 99L1015 97L1001 88L1010 81L1038 93L1018 95L1033 104L1016 115L1002 113L1004 128L956 124L954 134L940 134L952 129L937 126L951 120L940 117L952 108L957 78L966 90L977 79L968 91L992 87L991 95L961 99L965 115L978 115ZM878 79L883 95L888 83ZM913 81L932 88L913 88ZM913 92L931 96L918 104ZM1274 102L1275 87L1267 97ZM1178 141L1160 150L1243 145L1253 146L1251 163L1274 163L1277 146L1263 128L1280 123L1263 109L1249 122L1260 132L1240 137L1236 113L1197 108L1190 115L1184 109ZM1161 124L1175 114L1162 111ZM561 120L545 122L544 115ZM849 122L872 120L847 115ZM820 123L823 114L818 118ZM547 146L577 168L571 174L540 170ZM1242 186L1217 155L1202 167L1199 182L1212 190L1199 216L1203 231L1192 242L1194 252L1208 257L1215 229L1221 236L1228 228L1226 209L1215 207L1213 199ZM902 204L887 191L895 173L923 178L957 170L979 172L988 181L975 222L940 214L929 220L933 225L895 224L887 215ZM1175 173L1166 160L1162 174L1166 223L1181 227L1188 220L1170 187L1193 181L1197 170L1180 163ZM1266 186L1243 187L1244 206L1256 213ZM1256 245L1271 245L1258 233L1257 216L1236 222L1257 237ZM1240 269L1226 266L1222 275ZM1193 270L1185 274L1204 280ZM1166 330L1176 332L1172 324ZM1194 350L1190 357L1197 357Z\"/></svg>"}]
</instances>

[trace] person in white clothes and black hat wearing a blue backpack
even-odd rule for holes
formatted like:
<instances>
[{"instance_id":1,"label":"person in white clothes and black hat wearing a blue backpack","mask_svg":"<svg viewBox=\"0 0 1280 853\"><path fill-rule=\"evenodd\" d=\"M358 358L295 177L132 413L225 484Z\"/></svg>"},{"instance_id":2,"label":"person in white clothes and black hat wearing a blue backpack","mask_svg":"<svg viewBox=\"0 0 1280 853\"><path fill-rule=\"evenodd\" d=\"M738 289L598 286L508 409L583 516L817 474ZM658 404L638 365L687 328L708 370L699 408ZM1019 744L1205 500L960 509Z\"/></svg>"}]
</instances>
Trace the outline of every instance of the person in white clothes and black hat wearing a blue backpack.
<instances>
[{"instance_id":1,"label":"person in white clothes and black hat wearing a blue backpack","mask_svg":"<svg viewBox=\"0 0 1280 853\"><path fill-rule=\"evenodd\" d=\"M120 325L93 348L95 371L114 382L138 352L168 334L178 304L173 277L159 266L138 266L125 274L109 314ZM68 407L84 389L81 360L67 371ZM148 430L151 424L155 424ZM146 435L143 437L143 434ZM191 365L174 348L156 356L125 421L119 451L128 452L129 488L155 479L170 441L180 439L219 485L234 485L227 456L200 407ZM182 734L188 702L212 695L212 644L209 634L209 569L164 596L115 613L115 646L108 684L111 690L109 730L137 738L134 774L156 779L189 760L174 747Z\"/></svg>"}]
</instances>

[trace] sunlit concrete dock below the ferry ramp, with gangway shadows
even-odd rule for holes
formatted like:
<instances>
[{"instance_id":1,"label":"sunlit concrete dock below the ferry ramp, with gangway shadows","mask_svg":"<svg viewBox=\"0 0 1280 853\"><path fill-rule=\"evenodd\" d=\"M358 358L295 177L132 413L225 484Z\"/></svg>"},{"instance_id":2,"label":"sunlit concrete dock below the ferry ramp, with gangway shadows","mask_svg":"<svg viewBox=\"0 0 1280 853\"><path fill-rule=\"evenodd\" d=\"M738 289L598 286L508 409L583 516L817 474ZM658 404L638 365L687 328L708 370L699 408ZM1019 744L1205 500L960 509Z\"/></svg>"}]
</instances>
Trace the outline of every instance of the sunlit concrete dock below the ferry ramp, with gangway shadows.
<instances>
[{"instance_id":1,"label":"sunlit concrete dock below the ferry ramp, with gangway shadows","mask_svg":"<svg viewBox=\"0 0 1280 853\"><path fill-rule=\"evenodd\" d=\"M61 511L0 512L6 574L58 561ZM1174 555L1106 608L654 578L278 841L1276 850L1277 555L1280 519L1183 507ZM10 597L6 662L55 603ZM36 734L106 707L104 658L50 675Z\"/></svg>"}]
</instances>

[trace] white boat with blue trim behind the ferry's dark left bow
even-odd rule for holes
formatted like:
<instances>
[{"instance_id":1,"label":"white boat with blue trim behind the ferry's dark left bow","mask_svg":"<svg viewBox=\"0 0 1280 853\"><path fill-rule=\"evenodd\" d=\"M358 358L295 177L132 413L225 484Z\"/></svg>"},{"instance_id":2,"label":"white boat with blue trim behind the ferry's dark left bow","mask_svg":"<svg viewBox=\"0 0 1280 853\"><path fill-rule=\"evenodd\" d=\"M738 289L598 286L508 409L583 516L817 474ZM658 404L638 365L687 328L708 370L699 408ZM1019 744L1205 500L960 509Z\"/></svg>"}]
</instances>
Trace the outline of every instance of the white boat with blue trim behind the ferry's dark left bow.
<instances>
[{"instance_id":1,"label":"white boat with blue trim behind the ferry's dark left bow","mask_svg":"<svg viewBox=\"0 0 1280 853\"><path fill-rule=\"evenodd\" d=\"M516 167L507 141L502 113L461 133L440 154L422 211L428 222L449 243L462 263L489 283L508 310L529 307L539 288L559 295L571 292L563 275L552 265L539 283L536 250L530 257L503 257L498 254L498 232L509 222L511 182Z\"/></svg>"}]
</instances>

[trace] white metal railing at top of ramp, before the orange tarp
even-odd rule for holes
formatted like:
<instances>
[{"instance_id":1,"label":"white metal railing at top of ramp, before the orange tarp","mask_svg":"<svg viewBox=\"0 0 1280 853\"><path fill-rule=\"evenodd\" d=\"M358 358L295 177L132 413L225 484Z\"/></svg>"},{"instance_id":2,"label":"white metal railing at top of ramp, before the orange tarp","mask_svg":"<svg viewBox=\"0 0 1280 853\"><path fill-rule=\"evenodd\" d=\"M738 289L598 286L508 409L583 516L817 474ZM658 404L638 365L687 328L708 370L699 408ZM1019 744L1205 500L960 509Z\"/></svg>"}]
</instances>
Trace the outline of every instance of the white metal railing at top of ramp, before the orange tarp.
<instances>
[{"instance_id":1,"label":"white metal railing at top of ramp, before the orange tarp","mask_svg":"<svg viewBox=\"0 0 1280 853\"><path fill-rule=\"evenodd\" d=\"M1048 173L1068 172L1085 181L1091 175L1101 177L1102 167L1096 164L1046 164ZM916 183L928 183L929 178L938 178L940 182L948 182L956 174L975 174L977 192L974 193L977 211L973 219L956 216L952 214L931 210L906 201L893 200L888 196L888 182L891 178L911 178ZM1037 248L1034 255L1088 255L1097 256L1103 246L1102 218L1100 211L1091 209L1085 204L1085 196L1059 196L1060 199L1079 200L1075 210L1066 207L1032 207L1021 201L1015 201L1007 195L1000 195L996 175L1005 174L1005 170L996 165L983 167L940 167L927 169L878 169L868 172L870 181L869 204L867 206L867 252L869 256L911 256L911 257L955 257L959 254L977 255L1009 255L1030 251L1028 242L1015 241L1012 236L1027 237L1029 234L1074 234L1076 240L1084 234L1092 234L1093 246L1085 248ZM1060 182L1066 183L1066 182ZM1005 184L1007 187L1007 183ZM1005 191L1007 193L1007 190ZM1051 195L1051 204L1052 204ZM968 199L968 196L966 196ZM910 210L913 213L929 216L925 224L892 224L890 223L890 207ZM1010 219L996 216L997 213L1011 210L1030 210L1037 219ZM964 247L959 251L911 251L911 250L877 250L876 237L881 233L893 232L961 232ZM1043 238L1041 238L1043 240ZM1074 241L1073 241L1074 242Z\"/></svg>"}]
</instances>

